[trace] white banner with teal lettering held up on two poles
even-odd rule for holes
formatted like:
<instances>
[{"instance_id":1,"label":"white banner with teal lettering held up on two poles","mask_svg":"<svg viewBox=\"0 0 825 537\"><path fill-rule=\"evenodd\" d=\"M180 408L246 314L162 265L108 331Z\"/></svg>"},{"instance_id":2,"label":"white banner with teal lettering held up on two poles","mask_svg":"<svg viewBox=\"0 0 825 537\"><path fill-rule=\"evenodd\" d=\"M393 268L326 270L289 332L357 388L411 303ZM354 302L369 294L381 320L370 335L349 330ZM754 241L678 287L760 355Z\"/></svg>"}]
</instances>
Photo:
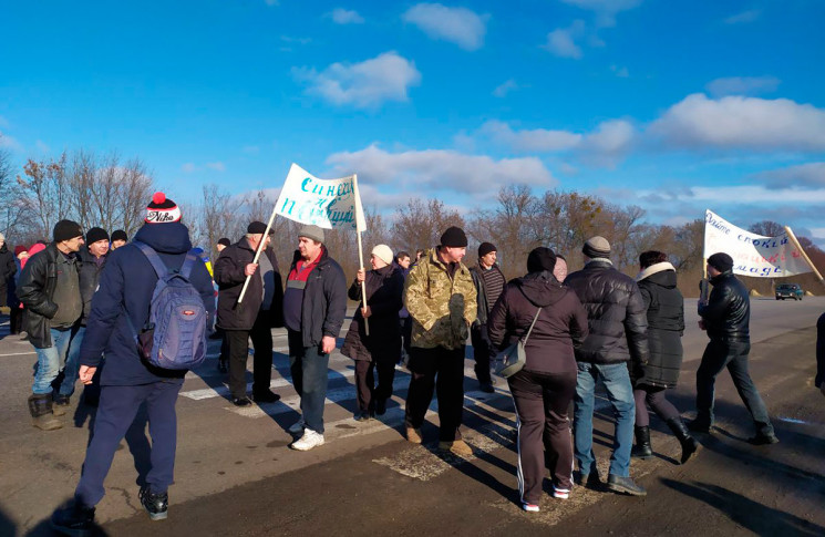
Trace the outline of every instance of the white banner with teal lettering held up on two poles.
<instances>
[{"instance_id":1,"label":"white banner with teal lettering held up on two poles","mask_svg":"<svg viewBox=\"0 0 825 537\"><path fill-rule=\"evenodd\" d=\"M363 231L367 227L355 175L319 179L297 164L289 168L276 214L326 229Z\"/></svg>"}]
</instances>

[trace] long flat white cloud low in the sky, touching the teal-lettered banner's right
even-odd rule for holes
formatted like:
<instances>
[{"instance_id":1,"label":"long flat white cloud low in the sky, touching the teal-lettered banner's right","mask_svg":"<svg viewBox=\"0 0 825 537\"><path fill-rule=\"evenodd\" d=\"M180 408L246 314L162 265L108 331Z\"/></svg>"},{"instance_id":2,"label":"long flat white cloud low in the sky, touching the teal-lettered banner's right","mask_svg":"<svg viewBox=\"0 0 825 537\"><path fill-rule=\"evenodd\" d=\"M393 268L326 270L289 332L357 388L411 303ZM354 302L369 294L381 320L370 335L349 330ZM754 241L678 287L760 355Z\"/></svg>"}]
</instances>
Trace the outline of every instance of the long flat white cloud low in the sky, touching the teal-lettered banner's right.
<instances>
[{"instance_id":1,"label":"long flat white cloud low in the sky, touching the teal-lettered banner's right","mask_svg":"<svg viewBox=\"0 0 825 537\"><path fill-rule=\"evenodd\" d=\"M426 149L389 153L377 145L357 152L330 155L334 173L358 171L368 184L394 184L421 192L452 190L465 194L497 192L503 185L522 183L549 188L553 174L535 157L502 158L464 155L454 151Z\"/></svg>"}]
</instances>

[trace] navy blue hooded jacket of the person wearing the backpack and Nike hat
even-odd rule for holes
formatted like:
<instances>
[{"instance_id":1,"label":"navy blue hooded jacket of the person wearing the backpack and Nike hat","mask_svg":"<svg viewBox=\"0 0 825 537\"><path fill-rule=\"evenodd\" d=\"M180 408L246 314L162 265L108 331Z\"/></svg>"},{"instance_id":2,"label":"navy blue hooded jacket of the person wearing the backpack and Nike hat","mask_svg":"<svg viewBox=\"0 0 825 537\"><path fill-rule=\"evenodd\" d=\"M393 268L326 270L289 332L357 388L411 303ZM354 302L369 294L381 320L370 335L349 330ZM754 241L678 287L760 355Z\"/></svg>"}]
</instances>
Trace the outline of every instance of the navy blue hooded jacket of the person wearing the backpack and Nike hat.
<instances>
[{"instance_id":1,"label":"navy blue hooded jacket of the person wearing the backpack and Nike hat","mask_svg":"<svg viewBox=\"0 0 825 537\"><path fill-rule=\"evenodd\" d=\"M181 223L145 224L135 235L157 251L169 269L177 270L192 249L189 230ZM203 262L196 264L189 277L209 316L215 311L212 277ZM101 385L135 386L159 381L183 382L186 371L153 368L137 354L134 335L124 314L135 327L148 320L149 302L157 275L149 260L130 244L109 255L101 272L100 287L92 298L92 311L80 349L81 365L97 366L105 354Z\"/></svg>"}]
</instances>

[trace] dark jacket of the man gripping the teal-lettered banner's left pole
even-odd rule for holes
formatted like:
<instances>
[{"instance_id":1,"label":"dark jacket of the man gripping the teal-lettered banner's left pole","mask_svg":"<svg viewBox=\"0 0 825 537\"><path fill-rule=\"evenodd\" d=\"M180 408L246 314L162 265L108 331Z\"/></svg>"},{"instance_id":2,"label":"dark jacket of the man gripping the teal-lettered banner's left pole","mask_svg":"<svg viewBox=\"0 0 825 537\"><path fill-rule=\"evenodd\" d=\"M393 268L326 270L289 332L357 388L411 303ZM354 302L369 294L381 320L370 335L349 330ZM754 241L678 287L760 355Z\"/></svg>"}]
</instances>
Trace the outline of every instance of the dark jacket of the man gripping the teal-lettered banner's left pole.
<instances>
[{"instance_id":1,"label":"dark jacket of the man gripping the teal-lettered banner's left pole","mask_svg":"<svg viewBox=\"0 0 825 537\"><path fill-rule=\"evenodd\" d=\"M275 295L272 307L269 309L269 326L283 326L283 281L281 280L278 259L271 248L264 250L275 270ZM246 237L234 245L224 248L215 261L215 282L218 285L218 328L224 330L251 330L262 301L264 279L260 266L249 278L244 301L238 304L240 290L246 281L246 266L255 259L255 250L249 246Z\"/></svg>"}]
</instances>

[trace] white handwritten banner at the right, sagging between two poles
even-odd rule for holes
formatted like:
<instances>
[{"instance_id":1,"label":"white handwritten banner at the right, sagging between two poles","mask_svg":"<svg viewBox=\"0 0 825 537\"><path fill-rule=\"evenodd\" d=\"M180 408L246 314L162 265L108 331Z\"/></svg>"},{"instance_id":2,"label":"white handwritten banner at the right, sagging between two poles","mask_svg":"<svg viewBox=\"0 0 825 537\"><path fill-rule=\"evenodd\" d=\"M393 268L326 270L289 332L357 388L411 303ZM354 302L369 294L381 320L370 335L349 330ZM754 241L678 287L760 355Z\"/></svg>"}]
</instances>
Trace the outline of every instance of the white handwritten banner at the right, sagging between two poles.
<instances>
[{"instance_id":1,"label":"white handwritten banner at the right, sagging between two poles","mask_svg":"<svg viewBox=\"0 0 825 537\"><path fill-rule=\"evenodd\" d=\"M723 251L733 258L733 273L782 278L812 272L786 233L763 237L739 228L711 210L704 214L704 258Z\"/></svg>"}]
</instances>

